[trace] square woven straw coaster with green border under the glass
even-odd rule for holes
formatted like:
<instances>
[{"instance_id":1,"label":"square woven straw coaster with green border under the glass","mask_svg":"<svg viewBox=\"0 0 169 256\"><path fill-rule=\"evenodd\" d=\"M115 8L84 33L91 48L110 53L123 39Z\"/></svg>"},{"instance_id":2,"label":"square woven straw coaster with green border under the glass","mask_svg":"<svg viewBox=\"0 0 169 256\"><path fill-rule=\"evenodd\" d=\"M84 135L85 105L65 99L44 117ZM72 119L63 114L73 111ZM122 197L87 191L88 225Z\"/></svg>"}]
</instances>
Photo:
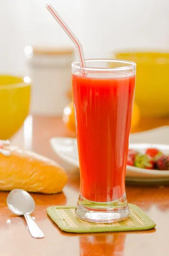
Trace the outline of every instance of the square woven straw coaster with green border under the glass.
<instances>
[{"instance_id":1,"label":"square woven straw coaster with green border under the glass","mask_svg":"<svg viewBox=\"0 0 169 256\"><path fill-rule=\"evenodd\" d=\"M61 230L70 233L149 230L156 226L155 222L135 204L129 204L129 208L129 217L114 223L93 223L80 220L74 213L75 208L71 206L52 206L47 208L47 213Z\"/></svg>"}]
</instances>

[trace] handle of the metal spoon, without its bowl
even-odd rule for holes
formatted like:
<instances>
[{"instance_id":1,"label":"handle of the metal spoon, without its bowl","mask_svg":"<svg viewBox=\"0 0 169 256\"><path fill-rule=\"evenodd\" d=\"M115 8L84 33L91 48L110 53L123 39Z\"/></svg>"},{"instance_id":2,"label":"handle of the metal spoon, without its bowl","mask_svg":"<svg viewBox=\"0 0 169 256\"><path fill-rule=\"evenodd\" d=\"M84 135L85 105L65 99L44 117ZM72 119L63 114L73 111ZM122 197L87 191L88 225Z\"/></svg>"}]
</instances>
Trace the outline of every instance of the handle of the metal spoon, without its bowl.
<instances>
[{"instance_id":1,"label":"handle of the metal spoon, without its bowl","mask_svg":"<svg viewBox=\"0 0 169 256\"><path fill-rule=\"evenodd\" d=\"M25 218L26 218L26 222L28 224L29 227L29 231L31 233L31 235L34 238L43 238L44 234L43 232L40 230L40 228L37 226L37 224L34 222L34 220L32 219L32 217L29 214L24 214Z\"/></svg>"}]
</instances>

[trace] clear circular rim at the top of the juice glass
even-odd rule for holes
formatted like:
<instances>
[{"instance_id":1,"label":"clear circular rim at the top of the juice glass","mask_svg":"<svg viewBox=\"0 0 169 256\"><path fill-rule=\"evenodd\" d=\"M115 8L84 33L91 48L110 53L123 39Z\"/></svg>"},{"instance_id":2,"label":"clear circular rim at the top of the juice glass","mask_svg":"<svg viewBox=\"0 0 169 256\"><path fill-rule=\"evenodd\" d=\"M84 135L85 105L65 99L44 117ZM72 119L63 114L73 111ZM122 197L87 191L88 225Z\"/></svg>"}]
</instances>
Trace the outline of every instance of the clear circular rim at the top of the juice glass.
<instances>
[{"instance_id":1,"label":"clear circular rim at the top of the juice glass","mask_svg":"<svg viewBox=\"0 0 169 256\"><path fill-rule=\"evenodd\" d=\"M136 67L136 63L133 61L125 61L125 60L120 60L120 59L106 59L106 58L95 58L95 59L86 59L86 64L87 62L95 62L95 61L103 61L103 62L119 62L122 64L128 64L128 66L123 66L123 67L83 67L79 65L79 61L73 61L72 62L72 67L76 69L83 69L86 71L118 71L118 70L130 70L132 68Z\"/></svg>"}]
</instances>

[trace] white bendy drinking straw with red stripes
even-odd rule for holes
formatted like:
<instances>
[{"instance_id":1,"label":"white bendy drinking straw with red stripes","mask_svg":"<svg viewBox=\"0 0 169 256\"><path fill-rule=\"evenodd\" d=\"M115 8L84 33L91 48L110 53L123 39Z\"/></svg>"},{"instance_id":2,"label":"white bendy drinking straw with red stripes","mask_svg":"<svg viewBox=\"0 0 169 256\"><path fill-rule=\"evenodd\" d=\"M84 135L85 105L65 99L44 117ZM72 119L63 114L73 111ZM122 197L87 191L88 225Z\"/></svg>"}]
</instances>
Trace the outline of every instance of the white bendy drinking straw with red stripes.
<instances>
[{"instance_id":1,"label":"white bendy drinking straw with red stripes","mask_svg":"<svg viewBox=\"0 0 169 256\"><path fill-rule=\"evenodd\" d=\"M63 30L66 32L66 34L69 36L69 38L72 40L73 44L75 45L77 49L77 55L79 58L80 66L85 67L85 57L83 53L83 47L80 43L79 39L76 35L72 32L72 30L69 28L69 26L64 22L64 20L60 17L60 15L57 13L57 11L53 8L53 6L50 3L47 3L45 5L46 9L50 12L50 14L54 17L54 19L57 21L57 23L63 28Z\"/></svg>"}]
</instances>

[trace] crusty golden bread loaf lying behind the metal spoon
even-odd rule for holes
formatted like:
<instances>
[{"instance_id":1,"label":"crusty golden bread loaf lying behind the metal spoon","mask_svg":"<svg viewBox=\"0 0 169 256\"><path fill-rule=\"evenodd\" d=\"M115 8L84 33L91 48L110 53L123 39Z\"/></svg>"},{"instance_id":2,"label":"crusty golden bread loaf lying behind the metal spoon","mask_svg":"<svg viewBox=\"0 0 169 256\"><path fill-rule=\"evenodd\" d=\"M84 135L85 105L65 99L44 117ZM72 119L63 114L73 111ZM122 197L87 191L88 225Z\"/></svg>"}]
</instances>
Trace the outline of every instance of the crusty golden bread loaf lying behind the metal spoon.
<instances>
[{"instance_id":1,"label":"crusty golden bread loaf lying behind the metal spoon","mask_svg":"<svg viewBox=\"0 0 169 256\"><path fill-rule=\"evenodd\" d=\"M4 146L9 157L0 154L0 190L24 189L28 192L61 192L66 172L53 160L14 146Z\"/></svg>"}]
</instances>

